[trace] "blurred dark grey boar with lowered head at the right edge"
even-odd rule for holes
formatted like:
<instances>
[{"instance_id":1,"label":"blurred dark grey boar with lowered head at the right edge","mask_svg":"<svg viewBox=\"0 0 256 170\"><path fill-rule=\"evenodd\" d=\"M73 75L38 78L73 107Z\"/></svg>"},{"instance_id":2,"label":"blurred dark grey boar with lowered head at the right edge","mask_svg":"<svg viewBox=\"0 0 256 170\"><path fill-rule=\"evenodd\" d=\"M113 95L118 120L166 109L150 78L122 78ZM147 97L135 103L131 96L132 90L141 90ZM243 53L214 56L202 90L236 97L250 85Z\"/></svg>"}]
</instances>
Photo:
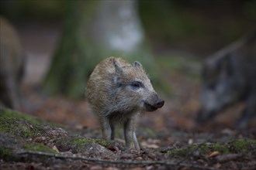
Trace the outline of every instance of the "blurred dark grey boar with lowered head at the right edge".
<instances>
[{"instance_id":1,"label":"blurred dark grey boar with lowered head at the right edge","mask_svg":"<svg viewBox=\"0 0 256 170\"><path fill-rule=\"evenodd\" d=\"M256 30L206 59L202 67L201 108L198 122L244 101L237 128L245 128L256 114Z\"/></svg>"}]
</instances>

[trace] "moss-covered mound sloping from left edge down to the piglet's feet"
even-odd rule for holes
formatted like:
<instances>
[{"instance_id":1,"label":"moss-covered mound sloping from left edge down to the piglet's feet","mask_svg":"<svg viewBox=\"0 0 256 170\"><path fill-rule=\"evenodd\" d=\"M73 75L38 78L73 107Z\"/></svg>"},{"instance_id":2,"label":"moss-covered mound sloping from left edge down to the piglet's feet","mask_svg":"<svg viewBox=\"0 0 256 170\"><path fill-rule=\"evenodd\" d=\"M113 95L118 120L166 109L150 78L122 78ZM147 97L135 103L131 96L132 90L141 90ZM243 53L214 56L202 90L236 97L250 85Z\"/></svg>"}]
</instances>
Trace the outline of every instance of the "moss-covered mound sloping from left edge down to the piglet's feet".
<instances>
[{"instance_id":1,"label":"moss-covered mound sloping from left edge down to the piglet's feet","mask_svg":"<svg viewBox=\"0 0 256 170\"><path fill-rule=\"evenodd\" d=\"M16 162L43 162L51 163L50 159L41 160L38 156L19 155L20 151L41 151L50 154L69 152L70 154L82 153L83 155L112 155L108 148L121 143L92 139L70 134L66 129L56 127L46 121L20 114L14 110L0 109L0 158L4 161ZM96 153L94 149L101 149Z\"/></svg>"}]
</instances>

